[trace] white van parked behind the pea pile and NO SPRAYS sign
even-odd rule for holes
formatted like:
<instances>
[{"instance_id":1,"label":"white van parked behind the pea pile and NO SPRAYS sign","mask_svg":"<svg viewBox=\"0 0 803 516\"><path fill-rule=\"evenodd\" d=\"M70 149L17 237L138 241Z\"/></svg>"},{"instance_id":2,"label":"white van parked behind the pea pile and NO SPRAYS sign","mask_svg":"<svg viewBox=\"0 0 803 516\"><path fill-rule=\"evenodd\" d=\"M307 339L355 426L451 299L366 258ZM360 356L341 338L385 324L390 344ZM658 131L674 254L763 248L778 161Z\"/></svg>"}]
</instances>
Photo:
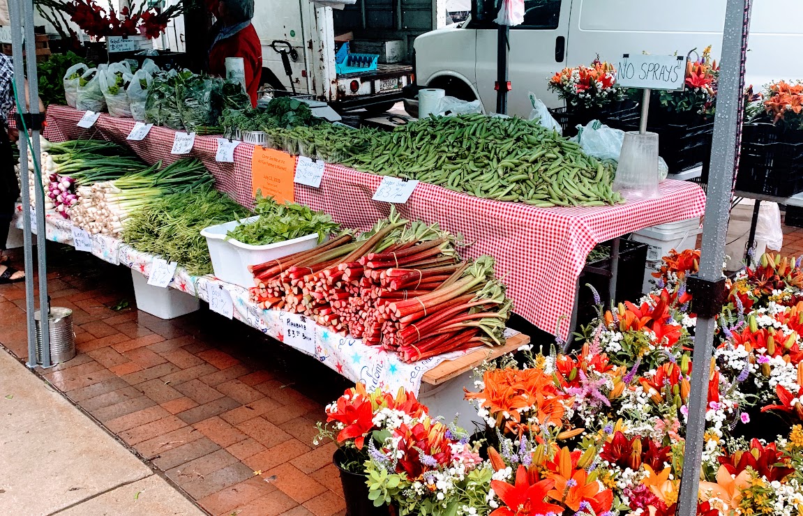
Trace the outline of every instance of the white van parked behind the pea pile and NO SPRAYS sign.
<instances>
[{"instance_id":1,"label":"white van parked behind the pea pile and NO SPRAYS sign","mask_svg":"<svg viewBox=\"0 0 803 516\"><path fill-rule=\"evenodd\" d=\"M563 102L548 79L564 67L589 64L597 55L616 63L626 53L687 55L711 45L719 56L727 0L525 0L524 24L510 30L512 91L507 112L528 116L533 91L551 108ZM472 0L471 18L418 36L414 43L418 86L496 106L495 0ZM747 84L760 89L777 79L803 79L801 0L753 2ZM694 55L692 55L694 57Z\"/></svg>"}]
</instances>

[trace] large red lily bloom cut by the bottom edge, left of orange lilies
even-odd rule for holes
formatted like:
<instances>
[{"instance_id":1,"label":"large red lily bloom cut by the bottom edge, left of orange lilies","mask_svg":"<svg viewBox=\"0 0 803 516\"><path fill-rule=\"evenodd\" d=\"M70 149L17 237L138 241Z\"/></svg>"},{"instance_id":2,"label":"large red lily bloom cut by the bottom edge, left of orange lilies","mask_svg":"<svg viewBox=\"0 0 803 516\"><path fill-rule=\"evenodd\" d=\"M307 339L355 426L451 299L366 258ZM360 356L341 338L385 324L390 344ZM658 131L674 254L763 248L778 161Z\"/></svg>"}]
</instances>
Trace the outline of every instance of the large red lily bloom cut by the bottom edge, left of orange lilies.
<instances>
[{"instance_id":1,"label":"large red lily bloom cut by the bottom edge, left of orange lilies","mask_svg":"<svg viewBox=\"0 0 803 516\"><path fill-rule=\"evenodd\" d=\"M507 482L492 480L491 488L507 507L499 507L491 516L536 516L536 514L563 514L564 507L554 503L545 502L547 493L555 482L552 480L538 481L532 486L528 481L527 469L523 465L516 470L516 485Z\"/></svg>"}]
</instances>

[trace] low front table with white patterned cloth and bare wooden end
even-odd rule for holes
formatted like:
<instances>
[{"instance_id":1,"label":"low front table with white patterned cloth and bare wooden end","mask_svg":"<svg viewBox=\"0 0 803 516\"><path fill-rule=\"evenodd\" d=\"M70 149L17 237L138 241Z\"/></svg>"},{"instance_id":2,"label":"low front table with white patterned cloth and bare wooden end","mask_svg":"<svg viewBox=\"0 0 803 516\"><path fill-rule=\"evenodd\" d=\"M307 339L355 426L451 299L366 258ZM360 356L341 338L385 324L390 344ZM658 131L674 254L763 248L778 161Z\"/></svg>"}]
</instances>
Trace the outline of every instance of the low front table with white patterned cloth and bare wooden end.
<instances>
[{"instance_id":1,"label":"low front table with white patterned cloth and bare wooden end","mask_svg":"<svg viewBox=\"0 0 803 516\"><path fill-rule=\"evenodd\" d=\"M22 205L17 205L15 224L22 227ZM58 214L45 215L47 239L73 246L72 224ZM133 249L116 238L92 236L92 254L112 264L128 266L137 274L149 277L153 256ZM467 351L454 351L445 355L406 364L378 346L367 346L360 339L337 334L328 328L311 324L312 342L308 347L296 345L286 339L285 313L262 310L248 299L248 291L212 276L193 276L177 267L169 286L187 295L209 301L211 289L222 288L232 301L232 317L262 331L279 341L315 357L340 375L362 382L367 388L385 388L395 392L404 387L419 395L435 414L450 416L461 412L461 425L471 425L474 409L463 400L463 388L471 387L473 369L483 360L491 360L505 353L516 351L529 342L529 337L517 331L507 330L507 342L498 347L479 347ZM152 286L151 288L159 288ZM463 419L466 418L466 419Z\"/></svg>"}]
</instances>

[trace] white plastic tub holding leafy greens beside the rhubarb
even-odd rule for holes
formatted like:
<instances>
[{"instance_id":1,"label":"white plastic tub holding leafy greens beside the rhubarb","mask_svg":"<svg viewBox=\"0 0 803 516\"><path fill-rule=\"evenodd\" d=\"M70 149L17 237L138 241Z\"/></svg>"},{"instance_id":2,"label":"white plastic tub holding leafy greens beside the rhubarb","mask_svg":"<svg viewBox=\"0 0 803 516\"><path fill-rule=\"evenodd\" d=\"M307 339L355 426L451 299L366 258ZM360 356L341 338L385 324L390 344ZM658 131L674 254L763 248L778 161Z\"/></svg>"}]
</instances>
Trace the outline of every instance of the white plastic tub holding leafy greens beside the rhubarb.
<instances>
[{"instance_id":1,"label":"white plastic tub holding leafy greens beside the rhubarb","mask_svg":"<svg viewBox=\"0 0 803 516\"><path fill-rule=\"evenodd\" d=\"M254 276L248 272L248 266L311 250L318 245L318 234L316 233L284 242L267 244L267 246L250 246L234 240L234 238L226 240L226 234L230 230L258 218L259 215L226 222L226 224L210 225L201 231L202 236L206 237L206 245L209 246L209 255L212 258L212 268L218 279L250 288L254 286Z\"/></svg>"}]
</instances>

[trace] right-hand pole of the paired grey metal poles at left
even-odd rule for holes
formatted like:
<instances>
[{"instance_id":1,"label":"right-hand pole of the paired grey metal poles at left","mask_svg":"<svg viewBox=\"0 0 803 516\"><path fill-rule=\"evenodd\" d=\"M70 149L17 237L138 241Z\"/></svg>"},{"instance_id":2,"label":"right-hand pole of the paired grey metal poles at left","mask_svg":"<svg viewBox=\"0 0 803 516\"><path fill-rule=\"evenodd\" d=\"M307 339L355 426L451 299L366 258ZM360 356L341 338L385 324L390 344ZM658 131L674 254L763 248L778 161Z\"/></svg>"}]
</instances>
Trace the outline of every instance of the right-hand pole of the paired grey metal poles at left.
<instances>
[{"instance_id":1,"label":"right-hand pole of the paired grey metal poles at left","mask_svg":"<svg viewBox=\"0 0 803 516\"><path fill-rule=\"evenodd\" d=\"M34 33L34 2L33 0L22 0L19 4L22 6L22 12L25 14L25 52L27 55L26 67L28 80L28 98L31 100L31 107L28 112L31 113L33 120L39 118L39 75L36 71L36 35ZM39 147L39 125L33 124L31 129L31 152L37 163L39 163L39 156L41 156L41 148ZM39 163L41 170L42 164ZM39 245L36 246L36 254L39 258L39 311L41 316L39 319L39 327L42 334L42 367L51 367L50 358L50 329L47 316L50 315L50 300L47 296L47 230L45 229L45 193L41 188L35 189L36 198L36 234L39 235Z\"/></svg>"}]
</instances>

